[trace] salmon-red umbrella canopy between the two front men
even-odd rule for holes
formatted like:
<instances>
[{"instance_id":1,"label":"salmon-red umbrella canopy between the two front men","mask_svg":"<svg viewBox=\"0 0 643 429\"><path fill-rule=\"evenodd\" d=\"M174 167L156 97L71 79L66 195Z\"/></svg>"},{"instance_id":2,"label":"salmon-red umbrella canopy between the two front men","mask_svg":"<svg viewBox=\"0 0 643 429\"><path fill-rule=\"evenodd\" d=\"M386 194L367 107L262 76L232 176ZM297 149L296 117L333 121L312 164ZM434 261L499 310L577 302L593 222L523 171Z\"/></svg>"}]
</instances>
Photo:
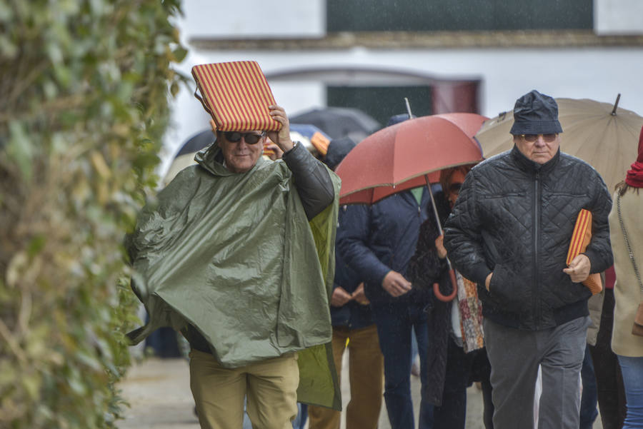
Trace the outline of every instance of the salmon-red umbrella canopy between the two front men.
<instances>
[{"instance_id":1,"label":"salmon-red umbrella canopy between the two front men","mask_svg":"<svg viewBox=\"0 0 643 429\"><path fill-rule=\"evenodd\" d=\"M439 180L444 168L482 161L473 136L486 118L475 113L421 116L364 139L337 166L340 203L372 204Z\"/></svg>"}]
</instances>

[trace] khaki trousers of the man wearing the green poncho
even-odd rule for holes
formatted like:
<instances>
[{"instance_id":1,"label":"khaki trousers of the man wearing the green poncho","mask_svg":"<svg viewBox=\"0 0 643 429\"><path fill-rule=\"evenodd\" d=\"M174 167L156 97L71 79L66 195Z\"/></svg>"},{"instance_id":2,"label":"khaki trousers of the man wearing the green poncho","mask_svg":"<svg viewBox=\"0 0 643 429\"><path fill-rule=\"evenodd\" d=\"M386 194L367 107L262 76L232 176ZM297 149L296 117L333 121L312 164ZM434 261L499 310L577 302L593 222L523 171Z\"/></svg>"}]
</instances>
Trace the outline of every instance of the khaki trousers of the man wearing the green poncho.
<instances>
[{"instance_id":1,"label":"khaki trousers of the man wearing the green poncho","mask_svg":"<svg viewBox=\"0 0 643 429\"><path fill-rule=\"evenodd\" d=\"M223 368L210 353L190 352L190 388L202 429L241 428L246 396L254 429L292 429L298 385L296 353Z\"/></svg>"}]
</instances>

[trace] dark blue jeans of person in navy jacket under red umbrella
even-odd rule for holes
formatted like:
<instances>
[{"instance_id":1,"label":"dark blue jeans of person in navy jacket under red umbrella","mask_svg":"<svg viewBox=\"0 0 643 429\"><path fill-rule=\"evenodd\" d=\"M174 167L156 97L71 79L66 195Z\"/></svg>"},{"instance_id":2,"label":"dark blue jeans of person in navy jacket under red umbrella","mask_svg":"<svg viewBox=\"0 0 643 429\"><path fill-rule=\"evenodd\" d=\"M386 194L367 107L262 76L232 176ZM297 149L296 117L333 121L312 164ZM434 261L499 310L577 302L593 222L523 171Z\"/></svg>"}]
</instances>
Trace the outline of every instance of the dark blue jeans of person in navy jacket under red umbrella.
<instances>
[{"instance_id":1,"label":"dark blue jeans of person in navy jacket under red umbrella","mask_svg":"<svg viewBox=\"0 0 643 429\"><path fill-rule=\"evenodd\" d=\"M420 380L427 379L427 313L424 303L404 300L372 303L379 347L384 355L384 401L392 429L414 429L411 399L411 333L415 330L420 358ZM421 390L424 392L424 389ZM433 405L420 401L419 429L433 426Z\"/></svg>"}]
</instances>

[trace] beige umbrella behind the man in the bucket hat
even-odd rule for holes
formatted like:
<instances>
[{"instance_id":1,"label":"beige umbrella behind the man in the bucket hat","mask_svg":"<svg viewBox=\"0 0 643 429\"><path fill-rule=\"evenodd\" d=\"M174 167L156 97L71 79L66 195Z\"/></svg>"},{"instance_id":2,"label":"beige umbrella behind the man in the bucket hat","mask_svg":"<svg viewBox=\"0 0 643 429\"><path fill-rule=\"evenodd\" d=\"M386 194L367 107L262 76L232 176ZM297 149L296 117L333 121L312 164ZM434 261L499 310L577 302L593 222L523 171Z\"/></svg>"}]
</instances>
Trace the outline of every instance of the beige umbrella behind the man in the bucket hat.
<instances>
[{"instance_id":1,"label":"beige umbrella behind the man in the bucket hat","mask_svg":"<svg viewBox=\"0 0 643 429\"><path fill-rule=\"evenodd\" d=\"M624 180L636 161L643 126L642 116L618 107L620 96L614 105L590 99L556 99L564 131L560 150L596 168L610 192ZM509 134L513 123L512 111L483 123L475 138L482 146L484 158L514 146Z\"/></svg>"}]
</instances>

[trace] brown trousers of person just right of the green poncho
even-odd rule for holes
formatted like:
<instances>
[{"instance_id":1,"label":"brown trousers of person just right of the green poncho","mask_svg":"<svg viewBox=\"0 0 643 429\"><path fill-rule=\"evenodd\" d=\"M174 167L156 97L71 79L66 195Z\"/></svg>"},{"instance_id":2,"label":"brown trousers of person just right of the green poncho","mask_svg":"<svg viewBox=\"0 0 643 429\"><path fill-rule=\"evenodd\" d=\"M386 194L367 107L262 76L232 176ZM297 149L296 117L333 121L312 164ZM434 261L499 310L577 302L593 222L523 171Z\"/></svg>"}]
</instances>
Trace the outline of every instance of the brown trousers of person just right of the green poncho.
<instances>
[{"instance_id":1,"label":"brown trousers of person just right of the green poncho","mask_svg":"<svg viewBox=\"0 0 643 429\"><path fill-rule=\"evenodd\" d=\"M338 378L342 355L349 349L351 400L346 408L347 429L377 429L384 390L384 358L379 350L376 326L350 329L333 327L333 359ZM339 429L340 413L330 408L308 408L309 429Z\"/></svg>"}]
</instances>

